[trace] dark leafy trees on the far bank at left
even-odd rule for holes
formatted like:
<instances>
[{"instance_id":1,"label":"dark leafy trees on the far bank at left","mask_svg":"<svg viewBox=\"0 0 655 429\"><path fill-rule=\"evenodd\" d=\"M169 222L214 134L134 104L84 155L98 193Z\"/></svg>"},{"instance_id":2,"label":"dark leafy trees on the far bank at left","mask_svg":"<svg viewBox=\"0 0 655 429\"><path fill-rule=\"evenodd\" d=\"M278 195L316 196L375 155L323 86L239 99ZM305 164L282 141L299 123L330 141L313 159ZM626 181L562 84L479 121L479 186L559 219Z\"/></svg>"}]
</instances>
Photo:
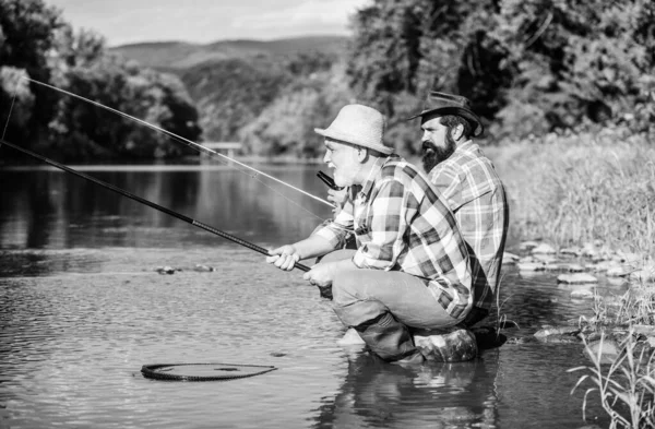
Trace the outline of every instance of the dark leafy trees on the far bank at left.
<instances>
[{"instance_id":1,"label":"dark leafy trees on the far bank at left","mask_svg":"<svg viewBox=\"0 0 655 429\"><path fill-rule=\"evenodd\" d=\"M102 36L73 32L60 11L41 0L0 0L0 112L7 139L63 160L189 152L164 133L32 80L189 140L201 134L198 110L178 78L109 55Z\"/></svg>"}]
</instances>

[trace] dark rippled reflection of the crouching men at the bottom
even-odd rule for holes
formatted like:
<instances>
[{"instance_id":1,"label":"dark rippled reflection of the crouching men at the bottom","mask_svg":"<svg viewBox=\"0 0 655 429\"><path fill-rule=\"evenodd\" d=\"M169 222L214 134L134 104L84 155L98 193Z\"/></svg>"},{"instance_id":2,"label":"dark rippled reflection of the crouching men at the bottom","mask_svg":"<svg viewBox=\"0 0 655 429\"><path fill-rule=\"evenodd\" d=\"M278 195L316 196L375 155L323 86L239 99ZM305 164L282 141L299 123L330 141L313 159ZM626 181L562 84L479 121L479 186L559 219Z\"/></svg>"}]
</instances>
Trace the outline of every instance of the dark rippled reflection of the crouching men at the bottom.
<instances>
[{"instance_id":1,"label":"dark rippled reflection of the crouching men at the bottom","mask_svg":"<svg viewBox=\"0 0 655 429\"><path fill-rule=\"evenodd\" d=\"M324 400L314 427L496 428L498 354L419 367L350 354L344 383L333 400Z\"/></svg>"}]
</instances>

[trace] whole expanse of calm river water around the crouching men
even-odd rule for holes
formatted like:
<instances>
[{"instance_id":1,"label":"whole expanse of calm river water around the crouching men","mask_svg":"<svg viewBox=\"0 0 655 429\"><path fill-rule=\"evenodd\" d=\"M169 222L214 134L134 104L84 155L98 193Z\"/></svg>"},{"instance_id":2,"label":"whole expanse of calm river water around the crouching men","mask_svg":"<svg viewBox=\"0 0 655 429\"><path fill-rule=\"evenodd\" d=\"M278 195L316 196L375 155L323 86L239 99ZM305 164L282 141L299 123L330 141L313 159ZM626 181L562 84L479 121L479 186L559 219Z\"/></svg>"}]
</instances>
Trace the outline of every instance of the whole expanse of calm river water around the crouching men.
<instances>
[{"instance_id":1,"label":"whole expanse of calm river water around the crouching men","mask_svg":"<svg viewBox=\"0 0 655 429\"><path fill-rule=\"evenodd\" d=\"M325 194L317 167L262 168ZM264 248L331 216L227 166L84 170ZM336 345L345 330L300 272L59 170L0 167L0 427L607 427L593 394L582 419L591 385L570 394L580 373L567 370L587 364L582 346L533 341L545 323L592 314L570 291L552 274L505 265L500 314L520 326L510 341L471 362L386 365ZM277 369L215 382L144 378L141 367L156 362Z\"/></svg>"}]
</instances>

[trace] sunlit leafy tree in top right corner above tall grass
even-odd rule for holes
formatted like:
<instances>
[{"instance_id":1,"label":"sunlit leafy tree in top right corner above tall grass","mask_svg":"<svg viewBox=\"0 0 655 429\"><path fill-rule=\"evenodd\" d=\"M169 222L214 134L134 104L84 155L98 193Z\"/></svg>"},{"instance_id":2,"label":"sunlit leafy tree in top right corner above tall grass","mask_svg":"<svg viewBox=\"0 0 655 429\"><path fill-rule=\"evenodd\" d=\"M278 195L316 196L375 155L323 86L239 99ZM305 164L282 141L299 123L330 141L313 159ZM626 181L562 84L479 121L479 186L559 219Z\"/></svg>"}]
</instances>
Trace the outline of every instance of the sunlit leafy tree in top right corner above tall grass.
<instances>
[{"instance_id":1,"label":"sunlit leafy tree in top right corner above tall grass","mask_svg":"<svg viewBox=\"0 0 655 429\"><path fill-rule=\"evenodd\" d=\"M614 117L646 129L655 119L654 17L647 0L503 2L493 37L515 76L503 128L539 133Z\"/></svg>"}]
</instances>

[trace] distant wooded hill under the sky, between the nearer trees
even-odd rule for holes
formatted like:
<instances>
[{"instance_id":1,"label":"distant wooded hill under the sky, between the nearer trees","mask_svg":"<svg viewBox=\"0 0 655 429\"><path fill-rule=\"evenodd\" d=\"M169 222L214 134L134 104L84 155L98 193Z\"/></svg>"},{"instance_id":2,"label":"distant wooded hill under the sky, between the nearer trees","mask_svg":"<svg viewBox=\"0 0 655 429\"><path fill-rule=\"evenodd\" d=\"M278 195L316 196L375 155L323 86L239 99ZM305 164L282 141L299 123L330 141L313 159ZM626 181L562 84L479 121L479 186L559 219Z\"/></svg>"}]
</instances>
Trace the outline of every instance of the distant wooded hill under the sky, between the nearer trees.
<instances>
[{"instance_id":1,"label":"distant wooded hill under the sky, between the nearer trees","mask_svg":"<svg viewBox=\"0 0 655 429\"><path fill-rule=\"evenodd\" d=\"M295 94L294 99L301 99L298 94L305 91L303 97L315 98L327 87L333 64L345 58L346 43L343 36L207 45L158 41L110 51L178 75L199 110L203 139L235 141L245 127L284 97ZM295 114L301 112L291 109Z\"/></svg>"}]
</instances>

